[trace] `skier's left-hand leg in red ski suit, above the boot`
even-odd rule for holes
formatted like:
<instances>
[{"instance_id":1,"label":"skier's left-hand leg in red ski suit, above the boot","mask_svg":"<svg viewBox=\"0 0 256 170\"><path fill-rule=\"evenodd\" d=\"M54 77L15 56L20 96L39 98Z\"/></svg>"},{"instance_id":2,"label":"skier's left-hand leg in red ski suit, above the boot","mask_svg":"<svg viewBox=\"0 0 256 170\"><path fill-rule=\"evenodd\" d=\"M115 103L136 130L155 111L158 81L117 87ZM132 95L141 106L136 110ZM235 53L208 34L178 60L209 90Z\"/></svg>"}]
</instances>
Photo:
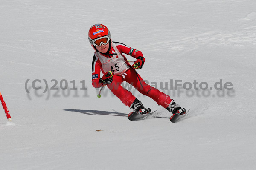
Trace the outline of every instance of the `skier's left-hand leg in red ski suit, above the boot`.
<instances>
[{"instance_id":1,"label":"skier's left-hand leg in red ski suit, above the boot","mask_svg":"<svg viewBox=\"0 0 256 170\"><path fill-rule=\"evenodd\" d=\"M121 86L123 81L124 78L122 76L113 75L113 81L111 84L108 84L108 88L122 101L123 104L130 107L134 102L135 97L131 92Z\"/></svg>"}]
</instances>

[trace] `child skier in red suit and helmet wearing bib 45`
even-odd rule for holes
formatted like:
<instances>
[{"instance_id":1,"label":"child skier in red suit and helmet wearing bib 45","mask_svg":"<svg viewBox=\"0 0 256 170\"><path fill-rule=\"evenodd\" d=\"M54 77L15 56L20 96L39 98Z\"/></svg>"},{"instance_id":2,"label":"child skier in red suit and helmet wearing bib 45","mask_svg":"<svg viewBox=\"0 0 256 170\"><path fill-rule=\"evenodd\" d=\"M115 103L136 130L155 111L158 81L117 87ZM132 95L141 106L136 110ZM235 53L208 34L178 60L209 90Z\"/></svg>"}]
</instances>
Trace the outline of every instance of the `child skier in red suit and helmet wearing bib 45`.
<instances>
[{"instance_id":1,"label":"child skier in red suit and helmet wearing bib 45","mask_svg":"<svg viewBox=\"0 0 256 170\"><path fill-rule=\"evenodd\" d=\"M172 112L172 114L183 115L186 113L169 95L146 84L136 72L135 69L141 69L145 63L142 52L126 46L125 44L113 42L111 40L110 31L102 24L95 24L90 28L88 39L95 50L92 63L92 84L95 88L107 85L111 92L113 92L123 104L134 109L134 112L139 114L147 114L150 112L150 110L144 107L131 92L121 86L122 82L126 81L134 86L140 93L152 98L158 105ZM132 66L122 53L136 58ZM100 78L101 71L104 74L102 78Z\"/></svg>"}]
</instances>

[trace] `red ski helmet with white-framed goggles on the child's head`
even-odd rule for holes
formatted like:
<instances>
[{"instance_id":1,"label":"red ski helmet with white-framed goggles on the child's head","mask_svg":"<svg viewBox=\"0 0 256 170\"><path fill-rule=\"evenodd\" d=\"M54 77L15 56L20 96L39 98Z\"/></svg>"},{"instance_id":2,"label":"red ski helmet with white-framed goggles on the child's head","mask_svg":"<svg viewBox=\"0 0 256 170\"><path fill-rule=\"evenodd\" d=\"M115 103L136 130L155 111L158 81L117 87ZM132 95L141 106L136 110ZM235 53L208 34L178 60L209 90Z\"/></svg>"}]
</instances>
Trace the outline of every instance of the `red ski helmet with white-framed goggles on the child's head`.
<instances>
[{"instance_id":1,"label":"red ski helmet with white-framed goggles on the child's head","mask_svg":"<svg viewBox=\"0 0 256 170\"><path fill-rule=\"evenodd\" d=\"M100 40L103 38L104 40ZM106 45L111 40L111 34L106 26L102 24L95 24L88 32L88 39L90 44L93 46L101 46L102 43Z\"/></svg>"}]
</instances>

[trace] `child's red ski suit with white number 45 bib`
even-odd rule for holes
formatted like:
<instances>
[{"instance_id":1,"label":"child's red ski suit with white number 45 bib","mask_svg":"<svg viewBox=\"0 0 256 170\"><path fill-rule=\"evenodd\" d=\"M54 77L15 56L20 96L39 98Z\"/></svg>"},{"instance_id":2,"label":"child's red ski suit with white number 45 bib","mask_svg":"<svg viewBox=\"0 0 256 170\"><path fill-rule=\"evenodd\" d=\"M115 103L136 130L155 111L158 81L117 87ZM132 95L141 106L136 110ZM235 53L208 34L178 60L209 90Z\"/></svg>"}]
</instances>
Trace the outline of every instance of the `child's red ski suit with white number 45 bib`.
<instances>
[{"instance_id":1,"label":"child's red ski suit with white number 45 bib","mask_svg":"<svg viewBox=\"0 0 256 170\"><path fill-rule=\"evenodd\" d=\"M125 53L131 55L134 58L139 56L143 57L142 52L126 46L122 43L111 42L111 49L109 54L105 55L99 52L95 52L93 56L93 79L92 84L95 88L99 88L103 83L99 83L100 72L105 74L108 71L114 72L113 82L108 84L108 88L116 95L123 104L131 106L135 97L131 92L121 86L123 81L128 82L134 86L140 93L152 98L158 105L164 108L168 107L172 99L169 95L160 92L158 89L149 86L143 81L140 75L134 70L128 63L126 57L122 55Z\"/></svg>"}]
</instances>

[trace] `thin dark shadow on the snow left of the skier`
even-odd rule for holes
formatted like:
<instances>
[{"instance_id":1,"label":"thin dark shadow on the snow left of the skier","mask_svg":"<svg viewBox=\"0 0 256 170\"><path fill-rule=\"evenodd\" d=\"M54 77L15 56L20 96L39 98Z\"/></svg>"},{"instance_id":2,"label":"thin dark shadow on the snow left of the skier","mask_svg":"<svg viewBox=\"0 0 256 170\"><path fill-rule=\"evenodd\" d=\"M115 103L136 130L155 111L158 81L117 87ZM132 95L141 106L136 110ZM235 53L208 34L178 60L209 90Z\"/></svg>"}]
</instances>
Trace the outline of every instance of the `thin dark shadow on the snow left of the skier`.
<instances>
[{"instance_id":1,"label":"thin dark shadow on the snow left of the skier","mask_svg":"<svg viewBox=\"0 0 256 170\"><path fill-rule=\"evenodd\" d=\"M108 111L100 111L100 110L64 109L64 111L79 112L79 113L83 113L86 115L96 115L96 116L98 116L98 115L123 116L123 117L128 116L128 114L119 113L119 112L116 112L115 110L113 110L113 112L108 112Z\"/></svg>"}]
</instances>

